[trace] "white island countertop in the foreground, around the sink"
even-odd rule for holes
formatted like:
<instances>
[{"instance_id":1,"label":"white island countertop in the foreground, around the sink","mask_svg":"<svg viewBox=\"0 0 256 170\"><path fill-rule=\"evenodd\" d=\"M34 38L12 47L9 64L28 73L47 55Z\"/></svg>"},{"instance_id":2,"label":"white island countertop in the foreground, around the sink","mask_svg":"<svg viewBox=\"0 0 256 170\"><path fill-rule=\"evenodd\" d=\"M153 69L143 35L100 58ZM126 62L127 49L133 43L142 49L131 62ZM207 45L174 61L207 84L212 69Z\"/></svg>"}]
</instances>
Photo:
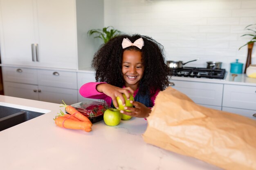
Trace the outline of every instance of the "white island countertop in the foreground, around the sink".
<instances>
[{"instance_id":1,"label":"white island countertop in the foreground, around the sink","mask_svg":"<svg viewBox=\"0 0 256 170\"><path fill-rule=\"evenodd\" d=\"M54 124L60 104L0 95L0 105L46 113L0 132L0 170L220 170L146 144L142 118L84 132Z\"/></svg>"}]
</instances>

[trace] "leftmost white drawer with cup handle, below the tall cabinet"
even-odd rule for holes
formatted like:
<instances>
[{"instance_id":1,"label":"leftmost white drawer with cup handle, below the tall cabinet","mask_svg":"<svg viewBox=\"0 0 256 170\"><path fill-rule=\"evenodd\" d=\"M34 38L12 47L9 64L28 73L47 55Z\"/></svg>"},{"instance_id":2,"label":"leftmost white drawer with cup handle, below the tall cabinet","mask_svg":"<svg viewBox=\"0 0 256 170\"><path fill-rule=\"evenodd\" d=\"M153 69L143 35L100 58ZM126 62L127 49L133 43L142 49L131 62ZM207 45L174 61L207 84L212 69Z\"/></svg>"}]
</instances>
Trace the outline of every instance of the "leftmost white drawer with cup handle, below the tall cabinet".
<instances>
[{"instance_id":1,"label":"leftmost white drawer with cup handle, below the tall cabinet","mask_svg":"<svg viewBox=\"0 0 256 170\"><path fill-rule=\"evenodd\" d=\"M20 67L2 67L3 81L25 84L38 84L37 70Z\"/></svg>"}]
</instances>

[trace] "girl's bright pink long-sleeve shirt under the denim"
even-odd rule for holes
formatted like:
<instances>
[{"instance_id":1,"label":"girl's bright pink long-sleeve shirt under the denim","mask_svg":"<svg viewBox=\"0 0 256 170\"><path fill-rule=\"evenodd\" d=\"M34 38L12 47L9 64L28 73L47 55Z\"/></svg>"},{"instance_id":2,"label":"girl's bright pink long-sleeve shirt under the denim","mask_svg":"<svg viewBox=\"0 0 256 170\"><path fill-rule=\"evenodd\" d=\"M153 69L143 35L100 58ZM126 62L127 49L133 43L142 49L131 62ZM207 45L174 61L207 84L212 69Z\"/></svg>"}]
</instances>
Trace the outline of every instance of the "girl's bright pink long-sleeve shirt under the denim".
<instances>
[{"instance_id":1,"label":"girl's bright pink long-sleeve shirt under the denim","mask_svg":"<svg viewBox=\"0 0 256 170\"><path fill-rule=\"evenodd\" d=\"M81 94L81 96L85 97L85 98L91 98L91 99L103 99L106 101L106 103L110 106L112 99L111 97L105 95L104 93L98 92L96 89L96 86L98 84L101 83L105 83L105 82L90 82L90 83L86 83L83 86L81 86L81 88L79 89L79 93ZM139 88L134 92L133 97L136 96L136 94L138 93ZM153 106L155 104L155 98L158 95L159 90L156 91L155 95L153 95L150 99L153 103Z\"/></svg>"}]
</instances>

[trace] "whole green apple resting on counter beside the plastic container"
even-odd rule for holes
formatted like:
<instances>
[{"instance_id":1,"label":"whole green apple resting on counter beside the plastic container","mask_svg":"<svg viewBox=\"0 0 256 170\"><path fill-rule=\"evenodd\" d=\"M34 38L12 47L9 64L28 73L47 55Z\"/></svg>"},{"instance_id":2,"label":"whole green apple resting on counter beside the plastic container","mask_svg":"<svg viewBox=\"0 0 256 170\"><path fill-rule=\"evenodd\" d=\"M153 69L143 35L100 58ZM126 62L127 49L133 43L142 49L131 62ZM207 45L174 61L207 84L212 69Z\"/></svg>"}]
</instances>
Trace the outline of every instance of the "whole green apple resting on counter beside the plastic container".
<instances>
[{"instance_id":1,"label":"whole green apple resting on counter beside the plastic container","mask_svg":"<svg viewBox=\"0 0 256 170\"><path fill-rule=\"evenodd\" d=\"M108 108L104 112L103 120L108 126L117 126L121 121L121 113L115 108Z\"/></svg>"}]
</instances>

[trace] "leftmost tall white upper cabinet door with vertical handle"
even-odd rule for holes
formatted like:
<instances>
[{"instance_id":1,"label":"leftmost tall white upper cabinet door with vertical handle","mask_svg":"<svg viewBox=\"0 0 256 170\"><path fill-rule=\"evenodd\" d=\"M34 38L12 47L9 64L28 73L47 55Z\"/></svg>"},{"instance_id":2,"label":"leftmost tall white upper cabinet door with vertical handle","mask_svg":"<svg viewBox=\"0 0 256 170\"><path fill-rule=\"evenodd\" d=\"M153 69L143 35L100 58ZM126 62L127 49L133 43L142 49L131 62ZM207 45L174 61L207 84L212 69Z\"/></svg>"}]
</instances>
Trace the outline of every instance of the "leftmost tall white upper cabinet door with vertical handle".
<instances>
[{"instance_id":1,"label":"leftmost tall white upper cabinet door with vertical handle","mask_svg":"<svg viewBox=\"0 0 256 170\"><path fill-rule=\"evenodd\" d=\"M33 2L34 0L0 1L2 63L33 64L31 44L36 43Z\"/></svg>"}]
</instances>

